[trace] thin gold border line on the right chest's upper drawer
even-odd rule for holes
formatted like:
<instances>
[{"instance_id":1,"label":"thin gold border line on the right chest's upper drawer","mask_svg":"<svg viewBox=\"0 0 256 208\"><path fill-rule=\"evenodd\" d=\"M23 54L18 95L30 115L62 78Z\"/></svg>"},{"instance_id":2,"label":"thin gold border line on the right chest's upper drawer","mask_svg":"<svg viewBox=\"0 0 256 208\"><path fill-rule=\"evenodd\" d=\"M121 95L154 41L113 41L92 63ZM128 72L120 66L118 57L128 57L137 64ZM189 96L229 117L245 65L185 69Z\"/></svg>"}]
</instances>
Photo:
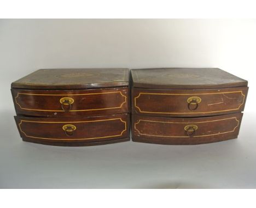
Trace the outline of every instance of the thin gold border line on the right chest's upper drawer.
<instances>
[{"instance_id":1,"label":"thin gold border line on the right chest's upper drawer","mask_svg":"<svg viewBox=\"0 0 256 208\"><path fill-rule=\"evenodd\" d=\"M211 95L211 94L229 94L229 93L241 93L242 96L243 96L243 102L242 104L240 104L240 106L238 106L238 108L235 108L235 109L226 109L226 110L222 110L222 111L210 111L210 112L187 112L187 113L184 113L184 112L181 112L181 113L178 113L178 112L150 112L150 111L141 111L141 108L139 108L137 105L136 105L136 99L141 96L141 94L148 94L148 95ZM229 91L229 92L223 92L223 93L196 93L196 94L175 94L175 93L139 93L139 95L137 97L135 97L134 99L134 105L136 108L138 108L139 112L140 113L161 113L161 114L199 114L199 113L217 113L217 112L226 112L226 111L235 111L235 110L238 110L240 109L240 107L243 105L243 103L245 102L245 94L243 94L243 91L240 90L240 91Z\"/></svg>"}]
</instances>

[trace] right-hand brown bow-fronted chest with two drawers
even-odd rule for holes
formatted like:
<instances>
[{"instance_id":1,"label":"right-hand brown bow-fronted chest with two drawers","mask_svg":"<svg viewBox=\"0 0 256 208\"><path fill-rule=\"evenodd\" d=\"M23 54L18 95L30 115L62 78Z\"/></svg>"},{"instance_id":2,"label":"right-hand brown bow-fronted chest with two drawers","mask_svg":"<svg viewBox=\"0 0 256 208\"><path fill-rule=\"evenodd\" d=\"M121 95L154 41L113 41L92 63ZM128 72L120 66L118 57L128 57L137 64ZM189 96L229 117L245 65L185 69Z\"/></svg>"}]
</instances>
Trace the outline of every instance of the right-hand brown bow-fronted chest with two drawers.
<instances>
[{"instance_id":1,"label":"right-hand brown bow-fronted chest with two drawers","mask_svg":"<svg viewBox=\"0 0 256 208\"><path fill-rule=\"evenodd\" d=\"M132 69L132 140L203 144L237 138L247 81L217 68Z\"/></svg>"}]
</instances>

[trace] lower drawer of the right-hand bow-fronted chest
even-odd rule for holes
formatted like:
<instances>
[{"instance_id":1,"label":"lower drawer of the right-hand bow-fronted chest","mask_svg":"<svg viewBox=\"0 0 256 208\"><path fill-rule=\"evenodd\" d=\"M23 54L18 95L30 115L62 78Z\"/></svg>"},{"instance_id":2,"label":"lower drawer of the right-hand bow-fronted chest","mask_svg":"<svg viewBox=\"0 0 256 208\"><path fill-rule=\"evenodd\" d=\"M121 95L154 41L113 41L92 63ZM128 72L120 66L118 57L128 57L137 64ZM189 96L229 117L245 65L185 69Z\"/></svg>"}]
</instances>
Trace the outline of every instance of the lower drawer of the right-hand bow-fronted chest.
<instances>
[{"instance_id":1,"label":"lower drawer of the right-hand bow-fronted chest","mask_svg":"<svg viewBox=\"0 0 256 208\"><path fill-rule=\"evenodd\" d=\"M132 115L132 140L155 144L203 144L237 138L242 113L201 118Z\"/></svg>"}]
</instances>

